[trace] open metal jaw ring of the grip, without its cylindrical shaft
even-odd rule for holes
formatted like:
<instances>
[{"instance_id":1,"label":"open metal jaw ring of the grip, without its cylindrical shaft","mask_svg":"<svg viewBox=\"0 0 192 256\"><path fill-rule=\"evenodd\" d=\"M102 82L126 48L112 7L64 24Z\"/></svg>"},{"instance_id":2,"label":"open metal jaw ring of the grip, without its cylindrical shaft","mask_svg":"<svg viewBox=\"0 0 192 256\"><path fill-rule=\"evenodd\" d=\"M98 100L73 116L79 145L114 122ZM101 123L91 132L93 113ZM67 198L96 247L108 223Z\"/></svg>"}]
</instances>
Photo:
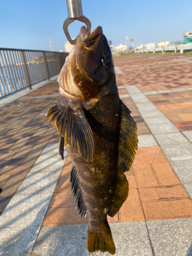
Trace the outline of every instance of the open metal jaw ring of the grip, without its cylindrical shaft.
<instances>
[{"instance_id":1,"label":"open metal jaw ring of the grip, without its cylindrical shaft","mask_svg":"<svg viewBox=\"0 0 192 256\"><path fill-rule=\"evenodd\" d=\"M69 17L68 17L68 18L65 20L65 22L63 23L62 28L63 28L63 31L64 31L64 33L65 33L65 35L66 35L66 37L67 37L67 39L68 39L68 41L70 42L71 45L74 45L74 44L75 44L75 42L76 42L76 40L77 40L77 37L76 37L75 39L71 39L71 36L70 36L70 34L69 34L69 31L68 31L68 26L69 26L71 23L73 23L76 19L79 20L79 22L83 22L83 23L86 24L87 30L88 30L88 35L90 35L90 33L91 33L91 22L90 22L90 20L89 20L86 16L75 17L75 18L69 18Z\"/></svg>"}]
</instances>

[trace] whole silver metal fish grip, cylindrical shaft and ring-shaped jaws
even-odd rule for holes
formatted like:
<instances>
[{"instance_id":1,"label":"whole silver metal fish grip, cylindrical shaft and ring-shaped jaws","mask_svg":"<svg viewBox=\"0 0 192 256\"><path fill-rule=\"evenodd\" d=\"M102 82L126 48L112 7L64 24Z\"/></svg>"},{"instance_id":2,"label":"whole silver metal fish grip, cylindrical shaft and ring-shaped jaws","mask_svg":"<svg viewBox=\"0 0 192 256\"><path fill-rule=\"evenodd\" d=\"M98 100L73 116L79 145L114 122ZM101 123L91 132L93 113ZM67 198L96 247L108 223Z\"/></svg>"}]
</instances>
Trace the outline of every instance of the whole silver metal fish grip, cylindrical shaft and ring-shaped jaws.
<instances>
[{"instance_id":1,"label":"whole silver metal fish grip, cylindrical shaft and ring-shaped jaws","mask_svg":"<svg viewBox=\"0 0 192 256\"><path fill-rule=\"evenodd\" d=\"M66 0L67 2L67 8L68 8L68 15L69 17L65 20L63 23L63 31L70 42L70 44L74 45L77 37L75 39L71 39L71 36L68 31L68 26L73 23L76 19L79 20L79 22L83 22L87 26L88 35L91 33L91 22L90 20L82 14L82 4L81 0Z\"/></svg>"}]
</instances>

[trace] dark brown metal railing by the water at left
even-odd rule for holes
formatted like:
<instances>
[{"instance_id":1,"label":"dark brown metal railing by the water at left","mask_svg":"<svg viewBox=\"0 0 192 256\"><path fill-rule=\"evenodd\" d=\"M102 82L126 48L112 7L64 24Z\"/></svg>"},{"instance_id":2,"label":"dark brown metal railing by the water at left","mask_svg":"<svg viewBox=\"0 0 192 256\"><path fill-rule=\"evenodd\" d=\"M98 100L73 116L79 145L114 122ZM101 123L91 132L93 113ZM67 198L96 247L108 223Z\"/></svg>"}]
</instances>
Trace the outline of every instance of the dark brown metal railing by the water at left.
<instances>
[{"instance_id":1,"label":"dark brown metal railing by the water at left","mask_svg":"<svg viewBox=\"0 0 192 256\"><path fill-rule=\"evenodd\" d=\"M0 98L59 74L69 53L0 48Z\"/></svg>"}]
</instances>

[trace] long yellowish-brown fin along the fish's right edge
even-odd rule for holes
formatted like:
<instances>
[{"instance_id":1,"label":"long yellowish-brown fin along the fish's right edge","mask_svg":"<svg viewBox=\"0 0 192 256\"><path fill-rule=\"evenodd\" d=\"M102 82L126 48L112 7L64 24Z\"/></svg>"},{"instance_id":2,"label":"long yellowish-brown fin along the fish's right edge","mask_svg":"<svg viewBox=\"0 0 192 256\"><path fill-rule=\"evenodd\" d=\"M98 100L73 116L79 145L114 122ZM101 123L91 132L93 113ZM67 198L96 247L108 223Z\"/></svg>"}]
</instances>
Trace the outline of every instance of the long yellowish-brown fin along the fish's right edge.
<instances>
[{"instance_id":1,"label":"long yellowish-brown fin along the fish's right edge","mask_svg":"<svg viewBox=\"0 0 192 256\"><path fill-rule=\"evenodd\" d=\"M138 148L137 125L131 111L120 100L120 129L118 144L117 183L109 216L114 217L128 197L129 183L124 172L130 170Z\"/></svg>"}]
</instances>

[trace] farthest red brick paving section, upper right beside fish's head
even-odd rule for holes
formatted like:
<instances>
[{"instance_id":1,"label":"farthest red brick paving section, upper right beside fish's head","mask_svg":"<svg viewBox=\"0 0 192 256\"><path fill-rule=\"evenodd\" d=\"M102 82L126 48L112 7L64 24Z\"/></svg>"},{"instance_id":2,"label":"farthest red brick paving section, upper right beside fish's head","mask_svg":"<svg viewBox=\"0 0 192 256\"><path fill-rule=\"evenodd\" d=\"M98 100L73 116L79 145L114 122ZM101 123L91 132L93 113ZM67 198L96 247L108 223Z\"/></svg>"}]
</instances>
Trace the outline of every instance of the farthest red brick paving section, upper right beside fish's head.
<instances>
[{"instance_id":1,"label":"farthest red brick paving section, upper right beside fish's head","mask_svg":"<svg viewBox=\"0 0 192 256\"><path fill-rule=\"evenodd\" d=\"M118 56L114 62L123 71L117 75L118 86L135 84L142 92L192 87L192 63L178 55Z\"/></svg>"}]
</instances>

